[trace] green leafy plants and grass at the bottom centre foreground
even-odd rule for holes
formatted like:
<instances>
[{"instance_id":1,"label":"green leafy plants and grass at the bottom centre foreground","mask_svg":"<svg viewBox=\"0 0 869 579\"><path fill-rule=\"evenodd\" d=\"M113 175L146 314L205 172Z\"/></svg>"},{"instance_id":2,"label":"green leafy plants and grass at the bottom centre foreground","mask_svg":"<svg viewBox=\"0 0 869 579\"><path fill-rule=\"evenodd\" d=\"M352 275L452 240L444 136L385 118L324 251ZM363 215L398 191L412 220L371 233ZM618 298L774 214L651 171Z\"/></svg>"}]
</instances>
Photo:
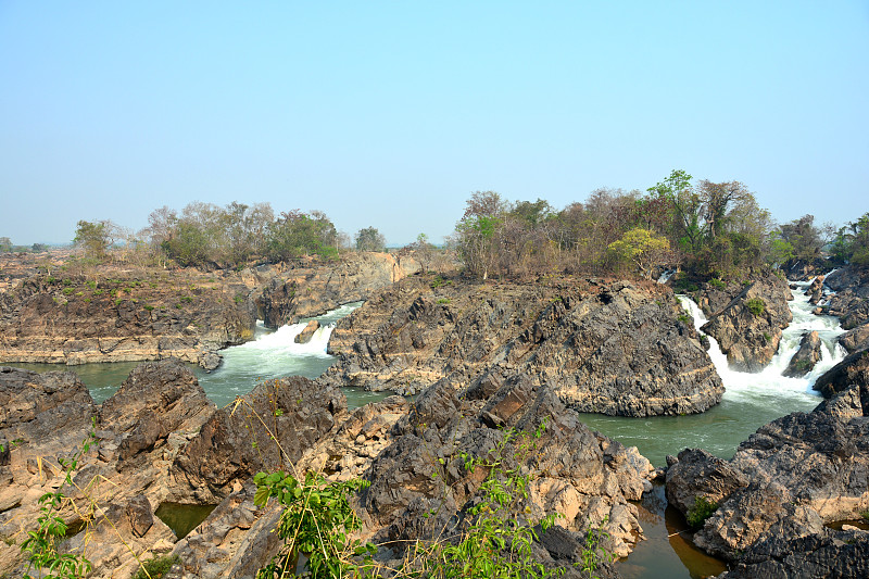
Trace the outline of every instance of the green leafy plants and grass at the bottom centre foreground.
<instances>
[{"instance_id":1,"label":"green leafy plants and grass at the bottom centre foreground","mask_svg":"<svg viewBox=\"0 0 869 579\"><path fill-rule=\"evenodd\" d=\"M563 575L564 568L549 569L533 556L539 532L549 529L556 515L539 520L517 517L534 477L533 470L520 466L519 458L536 451L542 432L543 426L532 436L525 432L517 436L514 430L507 430L489 456L461 454L467 473L482 468L488 475L477 501L465 512L458 533L429 542L418 541L408 550L401 568L389 569L389 575L443 579L543 579ZM503 453L512 443L516 449L515 461L505 461ZM294 577L297 567L301 566L300 559L306 559L303 566L314 579L382 577L386 569L373 559L377 546L352 538L361 523L350 506L350 495L366 488L367 481L330 482L314 473L307 473L300 481L284 471L260 473L254 481L257 484L254 502L259 506L265 506L272 498L284 505L276 529L284 545L272 562L260 569L257 579ZM607 537L600 528L588 531L581 561L576 564L588 577L595 577L602 564L614 559L601 546Z\"/></svg>"}]
</instances>

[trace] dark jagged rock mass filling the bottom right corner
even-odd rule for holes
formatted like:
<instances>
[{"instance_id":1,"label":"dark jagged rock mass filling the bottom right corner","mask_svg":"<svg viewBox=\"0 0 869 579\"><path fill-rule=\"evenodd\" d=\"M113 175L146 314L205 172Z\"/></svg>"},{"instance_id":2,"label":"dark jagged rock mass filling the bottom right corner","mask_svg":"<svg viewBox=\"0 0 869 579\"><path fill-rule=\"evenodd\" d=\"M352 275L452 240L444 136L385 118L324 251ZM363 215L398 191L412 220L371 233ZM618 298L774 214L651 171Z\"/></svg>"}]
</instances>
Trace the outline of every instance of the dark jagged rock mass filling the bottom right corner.
<instances>
[{"instance_id":1,"label":"dark jagged rock mass filling the bottom right corner","mask_svg":"<svg viewBox=\"0 0 869 579\"><path fill-rule=\"evenodd\" d=\"M811 413L761 427L727 463L687 451L680 456L691 463L671 467L667 494L682 498L673 504L683 513L692 496L717 499L694 543L733 563L728 578L861 577L867 567L856 555L867 534L824 524L857 519L869 506L868 418L869 386L852 386ZM852 567L836 561L836 549Z\"/></svg>"}]
</instances>

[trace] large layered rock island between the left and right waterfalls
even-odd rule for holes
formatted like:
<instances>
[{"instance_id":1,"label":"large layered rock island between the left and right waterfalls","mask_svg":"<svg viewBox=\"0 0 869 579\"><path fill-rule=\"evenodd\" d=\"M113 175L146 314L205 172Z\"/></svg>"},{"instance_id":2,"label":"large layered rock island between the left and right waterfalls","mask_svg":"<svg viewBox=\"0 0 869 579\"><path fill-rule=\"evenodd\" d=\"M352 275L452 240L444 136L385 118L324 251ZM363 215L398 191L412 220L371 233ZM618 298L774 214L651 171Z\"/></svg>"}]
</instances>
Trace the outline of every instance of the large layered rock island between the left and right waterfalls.
<instances>
[{"instance_id":1,"label":"large layered rock island between the left and right waterfalls","mask_svg":"<svg viewBox=\"0 0 869 579\"><path fill-rule=\"evenodd\" d=\"M527 376L581 412L703 412L723 387L669 289L412 278L340 320L320 383L419 391Z\"/></svg>"}]
</instances>

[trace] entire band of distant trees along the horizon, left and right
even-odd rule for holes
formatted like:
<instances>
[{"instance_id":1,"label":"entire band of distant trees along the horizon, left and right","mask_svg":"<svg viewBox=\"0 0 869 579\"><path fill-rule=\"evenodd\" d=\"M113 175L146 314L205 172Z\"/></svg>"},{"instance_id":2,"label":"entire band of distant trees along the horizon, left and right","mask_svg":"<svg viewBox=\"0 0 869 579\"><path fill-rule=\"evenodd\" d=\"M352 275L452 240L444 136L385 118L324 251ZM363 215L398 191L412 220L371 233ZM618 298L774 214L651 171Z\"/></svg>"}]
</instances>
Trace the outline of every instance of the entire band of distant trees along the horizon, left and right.
<instances>
[{"instance_id":1,"label":"entire band of distant trees along the horizon, left and right","mask_svg":"<svg viewBox=\"0 0 869 579\"><path fill-rule=\"evenodd\" d=\"M351 240L323 212L276 215L268 203L221 207L193 202L180 213L163 206L148 224L131 231L108 221L80 221L75 244L86 261L111 254L142 265L215 267L386 249L375 227ZM811 215L776 224L742 182L693 181L673 171L645 191L597 189L584 202L561 210L542 199L509 202L494 191L477 191L446 246L469 275L482 279L554 273L651 278L672 268L694 278L722 279L821 256L869 265L869 213L839 228L818 226ZM26 248L0 238L0 251L13 249ZM420 263L432 263L433 247L425 235L405 250L413 250Z\"/></svg>"}]
</instances>

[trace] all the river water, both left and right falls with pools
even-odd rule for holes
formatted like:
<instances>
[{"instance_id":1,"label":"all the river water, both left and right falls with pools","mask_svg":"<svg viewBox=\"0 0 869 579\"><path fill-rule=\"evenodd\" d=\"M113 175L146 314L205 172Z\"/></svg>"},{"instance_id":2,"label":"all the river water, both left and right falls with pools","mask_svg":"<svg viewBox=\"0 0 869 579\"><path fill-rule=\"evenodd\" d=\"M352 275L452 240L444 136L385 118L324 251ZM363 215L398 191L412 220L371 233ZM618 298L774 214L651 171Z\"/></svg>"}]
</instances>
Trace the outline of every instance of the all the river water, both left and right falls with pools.
<instances>
[{"instance_id":1,"label":"all the river water, both left and right falls with pools","mask_svg":"<svg viewBox=\"0 0 869 579\"><path fill-rule=\"evenodd\" d=\"M844 331L839 320L811 313L814 305L804 295L808 282L797 284L790 302L793 322L783 331L779 351L763 372L747 374L733 372L715 339L709 338L709 356L727 389L721 403L703 414L690 416L659 416L626 418L582 414L582 420L592 429L618 439L626 445L635 445L656 466L666 464L668 454L678 454L685 448L703 448L722 458L730 458L739 443L760 426L789 413L811 411L821 398L811 390L815 380L844 357L836 338ZM697 329L706 317L687 297L680 297L685 311L694 318ZM294 341L307 319L284 326L275 331L257 324L255 340L222 352L222 366L211 373L196 368L200 383L209 398L223 406L236 395L251 390L260 380L287 375L315 378L335 363L326 353L335 323L358 307L361 302L347 304L316 318L322 327L306 344ZM817 330L823 342L822 357L804 378L781 376L791 356L807 331ZM138 363L88 364L72 368L88 385L99 403L109 398ZM38 372L59 369L52 364L12 364ZM374 393L355 388L344 388L348 406L358 407L380 400L389 392ZM693 546L684 520L675 509L667 507L664 488L656 486L646 493L640 509L645 539L634 552L619 563L626 579L700 579L725 570L722 563L706 556Z\"/></svg>"}]
</instances>

